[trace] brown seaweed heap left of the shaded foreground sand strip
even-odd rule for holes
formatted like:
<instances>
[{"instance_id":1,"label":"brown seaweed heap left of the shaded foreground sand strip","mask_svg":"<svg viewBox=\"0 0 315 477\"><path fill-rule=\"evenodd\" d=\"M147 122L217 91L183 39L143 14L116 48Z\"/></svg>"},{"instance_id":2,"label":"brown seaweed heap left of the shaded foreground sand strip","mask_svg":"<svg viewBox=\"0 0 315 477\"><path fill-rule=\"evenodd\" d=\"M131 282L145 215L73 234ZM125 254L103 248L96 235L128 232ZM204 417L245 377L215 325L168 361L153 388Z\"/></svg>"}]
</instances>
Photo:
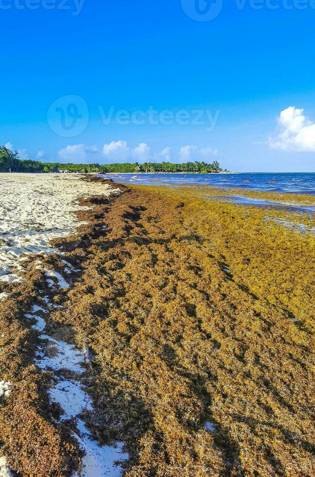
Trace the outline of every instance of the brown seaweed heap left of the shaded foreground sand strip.
<instances>
[{"instance_id":1,"label":"brown seaweed heap left of the shaded foreground sand strip","mask_svg":"<svg viewBox=\"0 0 315 477\"><path fill-rule=\"evenodd\" d=\"M0 301L0 375L10 389L0 398L0 443L17 475L61 477L75 468L79 451L67 429L55 424L49 375L35 367L38 337L25 317L44 283L31 262L24 281L10 285L9 297Z\"/></svg>"}]
</instances>

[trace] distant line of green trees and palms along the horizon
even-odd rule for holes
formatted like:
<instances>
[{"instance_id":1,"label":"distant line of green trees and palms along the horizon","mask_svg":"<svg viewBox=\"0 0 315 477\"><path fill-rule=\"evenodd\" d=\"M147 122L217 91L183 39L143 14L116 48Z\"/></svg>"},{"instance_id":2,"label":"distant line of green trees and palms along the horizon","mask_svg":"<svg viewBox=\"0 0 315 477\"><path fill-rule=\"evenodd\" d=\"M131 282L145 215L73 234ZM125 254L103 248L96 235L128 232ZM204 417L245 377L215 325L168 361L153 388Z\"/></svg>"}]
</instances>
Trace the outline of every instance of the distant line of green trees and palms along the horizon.
<instances>
[{"instance_id":1,"label":"distant line of green trees and palms along the horizon","mask_svg":"<svg viewBox=\"0 0 315 477\"><path fill-rule=\"evenodd\" d=\"M30 159L19 159L18 152L12 152L6 147L0 147L0 172L222 172L217 161L212 164L205 162L188 162L172 164L170 162L144 164L62 164L39 162Z\"/></svg>"}]
</instances>

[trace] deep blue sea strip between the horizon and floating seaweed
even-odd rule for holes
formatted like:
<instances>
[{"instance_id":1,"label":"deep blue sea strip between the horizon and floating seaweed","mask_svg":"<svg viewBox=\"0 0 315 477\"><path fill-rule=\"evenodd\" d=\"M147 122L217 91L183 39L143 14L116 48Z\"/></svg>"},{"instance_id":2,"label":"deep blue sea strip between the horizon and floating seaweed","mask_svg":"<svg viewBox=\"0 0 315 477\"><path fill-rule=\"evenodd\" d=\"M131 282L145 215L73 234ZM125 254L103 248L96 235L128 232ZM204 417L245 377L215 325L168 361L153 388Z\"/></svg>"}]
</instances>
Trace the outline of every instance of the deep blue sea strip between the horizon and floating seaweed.
<instances>
[{"instance_id":1,"label":"deep blue sea strip between the horizon and floating seaweed","mask_svg":"<svg viewBox=\"0 0 315 477\"><path fill-rule=\"evenodd\" d=\"M242 172L236 174L105 174L106 178L122 183L145 185L202 184L220 189L264 190L315 195L315 173Z\"/></svg>"}]
</instances>

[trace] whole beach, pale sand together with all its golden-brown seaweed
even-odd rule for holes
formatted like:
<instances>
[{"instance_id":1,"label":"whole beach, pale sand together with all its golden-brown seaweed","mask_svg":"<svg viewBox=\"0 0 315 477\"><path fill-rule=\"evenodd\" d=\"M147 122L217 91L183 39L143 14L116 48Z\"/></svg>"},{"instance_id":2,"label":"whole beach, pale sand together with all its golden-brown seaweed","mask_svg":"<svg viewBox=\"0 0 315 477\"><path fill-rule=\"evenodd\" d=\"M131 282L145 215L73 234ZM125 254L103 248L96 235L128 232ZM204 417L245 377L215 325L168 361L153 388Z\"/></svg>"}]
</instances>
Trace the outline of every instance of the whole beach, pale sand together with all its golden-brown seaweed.
<instances>
[{"instance_id":1,"label":"whole beach, pale sand together with all its golden-brown seaweed","mask_svg":"<svg viewBox=\"0 0 315 477\"><path fill-rule=\"evenodd\" d=\"M312 216L0 184L0 475L314 475Z\"/></svg>"}]
</instances>

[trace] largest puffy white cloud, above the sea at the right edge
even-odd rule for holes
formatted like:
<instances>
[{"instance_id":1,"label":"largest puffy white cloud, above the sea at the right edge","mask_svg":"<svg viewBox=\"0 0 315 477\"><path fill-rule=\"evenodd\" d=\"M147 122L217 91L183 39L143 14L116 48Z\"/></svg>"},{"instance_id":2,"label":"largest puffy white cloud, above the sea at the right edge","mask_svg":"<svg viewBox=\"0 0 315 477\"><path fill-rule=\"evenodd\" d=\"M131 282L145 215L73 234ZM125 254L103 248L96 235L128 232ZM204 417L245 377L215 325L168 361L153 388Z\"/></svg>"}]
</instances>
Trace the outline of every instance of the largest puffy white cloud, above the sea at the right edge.
<instances>
[{"instance_id":1,"label":"largest puffy white cloud, above the sea at the right edge","mask_svg":"<svg viewBox=\"0 0 315 477\"><path fill-rule=\"evenodd\" d=\"M273 149L296 152L315 152L315 123L304 115L304 110L290 106L278 118L280 132L269 138Z\"/></svg>"}]
</instances>

